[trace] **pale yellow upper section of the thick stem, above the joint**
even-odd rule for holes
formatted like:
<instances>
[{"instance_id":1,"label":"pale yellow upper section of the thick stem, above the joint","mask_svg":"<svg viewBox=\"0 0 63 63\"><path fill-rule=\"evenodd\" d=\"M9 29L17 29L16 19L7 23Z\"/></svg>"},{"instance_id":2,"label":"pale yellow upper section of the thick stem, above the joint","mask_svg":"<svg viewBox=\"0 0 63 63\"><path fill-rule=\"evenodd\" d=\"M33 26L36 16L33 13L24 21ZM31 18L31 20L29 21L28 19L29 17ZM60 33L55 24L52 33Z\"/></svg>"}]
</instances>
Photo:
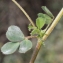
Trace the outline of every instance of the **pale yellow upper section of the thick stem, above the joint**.
<instances>
[{"instance_id":1,"label":"pale yellow upper section of the thick stem, above the joint","mask_svg":"<svg viewBox=\"0 0 63 63\"><path fill-rule=\"evenodd\" d=\"M51 24L51 26L49 27L49 29L46 31L46 33L44 34L44 36L42 38L42 41L45 41L47 39L47 37L50 35L50 33L53 31L53 29L57 25L57 23L60 21L62 15L63 15L63 8L58 13L58 15L56 16L55 20L53 21L53 23Z\"/></svg>"}]
</instances>

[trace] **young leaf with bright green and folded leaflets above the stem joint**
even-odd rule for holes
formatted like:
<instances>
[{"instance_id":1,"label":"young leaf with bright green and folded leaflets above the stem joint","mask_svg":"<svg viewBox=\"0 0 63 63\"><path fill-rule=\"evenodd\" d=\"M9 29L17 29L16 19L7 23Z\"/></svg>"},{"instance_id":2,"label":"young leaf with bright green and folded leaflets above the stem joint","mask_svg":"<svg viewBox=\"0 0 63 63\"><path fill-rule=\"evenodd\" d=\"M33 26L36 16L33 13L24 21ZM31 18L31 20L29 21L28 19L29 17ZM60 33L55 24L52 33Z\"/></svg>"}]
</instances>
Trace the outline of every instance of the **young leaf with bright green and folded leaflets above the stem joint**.
<instances>
[{"instance_id":1,"label":"young leaf with bright green and folded leaflets above the stem joint","mask_svg":"<svg viewBox=\"0 0 63 63\"><path fill-rule=\"evenodd\" d=\"M46 14L38 13L38 18L36 19L36 26L41 29L45 24L51 23L52 19L54 18L53 14L49 11L46 6L41 7Z\"/></svg>"}]
</instances>

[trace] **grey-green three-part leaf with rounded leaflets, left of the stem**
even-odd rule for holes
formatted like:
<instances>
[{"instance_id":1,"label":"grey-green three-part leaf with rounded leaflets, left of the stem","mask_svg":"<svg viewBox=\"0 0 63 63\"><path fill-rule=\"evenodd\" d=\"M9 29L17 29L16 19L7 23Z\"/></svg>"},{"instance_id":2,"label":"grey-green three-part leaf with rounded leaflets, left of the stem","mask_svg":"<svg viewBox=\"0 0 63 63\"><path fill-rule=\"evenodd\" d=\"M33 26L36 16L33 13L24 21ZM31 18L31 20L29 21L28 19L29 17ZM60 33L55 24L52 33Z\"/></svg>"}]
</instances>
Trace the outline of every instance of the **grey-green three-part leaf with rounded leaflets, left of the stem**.
<instances>
[{"instance_id":1,"label":"grey-green three-part leaf with rounded leaflets, left of the stem","mask_svg":"<svg viewBox=\"0 0 63 63\"><path fill-rule=\"evenodd\" d=\"M6 37L11 41L3 45L1 52L3 54L12 54L18 48L20 53L25 53L32 48L30 40L26 40L24 34L17 26L10 26L6 32Z\"/></svg>"}]
</instances>

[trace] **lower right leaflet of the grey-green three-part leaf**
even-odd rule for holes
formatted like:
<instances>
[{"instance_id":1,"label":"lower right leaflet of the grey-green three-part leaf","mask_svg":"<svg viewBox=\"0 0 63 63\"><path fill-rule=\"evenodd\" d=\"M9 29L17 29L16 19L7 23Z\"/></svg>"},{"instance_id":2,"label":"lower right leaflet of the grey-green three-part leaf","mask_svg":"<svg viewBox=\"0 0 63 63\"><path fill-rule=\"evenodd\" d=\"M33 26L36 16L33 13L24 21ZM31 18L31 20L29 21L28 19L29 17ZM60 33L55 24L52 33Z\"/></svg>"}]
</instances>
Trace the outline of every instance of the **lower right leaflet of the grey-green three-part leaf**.
<instances>
[{"instance_id":1,"label":"lower right leaflet of the grey-green three-part leaf","mask_svg":"<svg viewBox=\"0 0 63 63\"><path fill-rule=\"evenodd\" d=\"M20 43L19 52L20 53L26 53L31 48L32 48L32 42L30 40L23 40Z\"/></svg>"}]
</instances>

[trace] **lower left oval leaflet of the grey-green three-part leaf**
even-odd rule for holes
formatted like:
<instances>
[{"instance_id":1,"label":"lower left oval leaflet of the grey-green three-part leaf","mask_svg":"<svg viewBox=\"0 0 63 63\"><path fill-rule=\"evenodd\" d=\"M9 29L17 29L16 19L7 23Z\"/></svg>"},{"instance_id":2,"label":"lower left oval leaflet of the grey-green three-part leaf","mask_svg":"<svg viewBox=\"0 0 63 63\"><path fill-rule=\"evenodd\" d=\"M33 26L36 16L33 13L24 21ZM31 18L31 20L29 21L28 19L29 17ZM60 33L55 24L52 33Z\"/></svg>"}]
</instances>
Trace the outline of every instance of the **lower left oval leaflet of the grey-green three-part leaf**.
<instances>
[{"instance_id":1,"label":"lower left oval leaflet of the grey-green three-part leaf","mask_svg":"<svg viewBox=\"0 0 63 63\"><path fill-rule=\"evenodd\" d=\"M2 46L1 52L3 54L12 54L18 49L18 47L19 42L8 42Z\"/></svg>"}]
</instances>

